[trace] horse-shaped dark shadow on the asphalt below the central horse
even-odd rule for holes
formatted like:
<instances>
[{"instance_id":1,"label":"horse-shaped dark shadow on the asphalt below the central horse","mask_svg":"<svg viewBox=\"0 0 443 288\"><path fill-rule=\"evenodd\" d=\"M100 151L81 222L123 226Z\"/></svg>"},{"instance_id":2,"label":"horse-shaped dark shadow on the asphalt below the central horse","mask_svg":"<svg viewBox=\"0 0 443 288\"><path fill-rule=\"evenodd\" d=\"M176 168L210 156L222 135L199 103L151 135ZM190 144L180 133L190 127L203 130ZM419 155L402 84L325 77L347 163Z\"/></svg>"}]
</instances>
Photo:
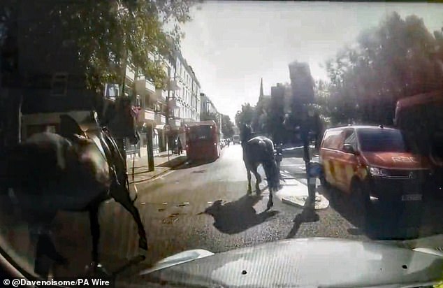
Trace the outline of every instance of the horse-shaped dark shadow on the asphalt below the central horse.
<instances>
[{"instance_id":1,"label":"horse-shaped dark shadow on the asphalt below the central horse","mask_svg":"<svg viewBox=\"0 0 443 288\"><path fill-rule=\"evenodd\" d=\"M256 213L254 205L262 198L263 196L245 195L237 201L225 204L222 204L222 200L215 201L203 213L214 217L214 226L220 232L227 234L240 233L265 222L269 217L277 215L278 211L275 210Z\"/></svg>"}]
</instances>

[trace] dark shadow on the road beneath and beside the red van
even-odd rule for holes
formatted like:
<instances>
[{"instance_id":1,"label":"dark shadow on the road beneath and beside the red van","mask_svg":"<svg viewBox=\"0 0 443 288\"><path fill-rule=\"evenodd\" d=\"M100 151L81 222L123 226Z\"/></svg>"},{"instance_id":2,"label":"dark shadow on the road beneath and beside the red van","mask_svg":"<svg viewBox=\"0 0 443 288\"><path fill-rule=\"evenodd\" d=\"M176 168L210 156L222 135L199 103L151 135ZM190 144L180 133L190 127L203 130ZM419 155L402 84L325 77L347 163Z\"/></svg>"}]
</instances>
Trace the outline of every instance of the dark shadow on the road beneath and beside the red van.
<instances>
[{"instance_id":1,"label":"dark shadow on the road beneath and beside the red van","mask_svg":"<svg viewBox=\"0 0 443 288\"><path fill-rule=\"evenodd\" d=\"M351 235L365 235L372 240L406 240L443 233L441 200L401 203L373 203L374 211L364 224L361 211L351 204L348 195L337 189L321 187L323 194L337 213L356 226Z\"/></svg>"}]
</instances>

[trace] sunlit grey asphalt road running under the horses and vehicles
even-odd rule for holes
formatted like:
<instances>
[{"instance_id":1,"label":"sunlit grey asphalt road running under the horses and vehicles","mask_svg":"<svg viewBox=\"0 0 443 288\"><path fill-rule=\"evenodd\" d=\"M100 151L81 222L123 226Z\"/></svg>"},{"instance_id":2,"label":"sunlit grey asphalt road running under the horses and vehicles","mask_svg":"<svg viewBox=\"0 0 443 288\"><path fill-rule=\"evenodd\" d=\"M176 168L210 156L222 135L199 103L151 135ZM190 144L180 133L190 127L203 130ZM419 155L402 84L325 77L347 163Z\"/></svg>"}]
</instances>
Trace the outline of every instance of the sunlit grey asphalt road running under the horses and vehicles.
<instances>
[{"instance_id":1,"label":"sunlit grey asphalt road running under the horses and vehicles","mask_svg":"<svg viewBox=\"0 0 443 288\"><path fill-rule=\"evenodd\" d=\"M301 150L286 150L282 171L286 179L305 177ZM254 177L252 177L254 187ZM266 181L265 181L266 182ZM363 231L359 211L349 199L333 189L319 192L331 205L317 210L319 219L303 219L303 209L282 203L275 197L274 207L266 211L268 189L261 196L246 196L247 177L240 145L222 150L217 161L208 164L185 164L161 177L142 182L136 206L145 224L150 250L147 259L122 271L126 278L150 263L171 254L191 249L222 252L284 238L334 237L360 240L428 236L442 233L441 207L412 206L408 209L379 208L374 225ZM417 208L418 207L418 208ZM413 215L414 217L409 217ZM388 221L389 220L389 221ZM15 256L32 267L34 243L27 236L27 226L19 217L0 217L1 234ZM138 236L129 213L114 201L103 203L100 212L101 263L117 271L136 257ZM55 275L73 276L84 272L90 261L91 237L87 213L59 213L52 228L57 250L68 258L67 266L55 268Z\"/></svg>"}]
</instances>

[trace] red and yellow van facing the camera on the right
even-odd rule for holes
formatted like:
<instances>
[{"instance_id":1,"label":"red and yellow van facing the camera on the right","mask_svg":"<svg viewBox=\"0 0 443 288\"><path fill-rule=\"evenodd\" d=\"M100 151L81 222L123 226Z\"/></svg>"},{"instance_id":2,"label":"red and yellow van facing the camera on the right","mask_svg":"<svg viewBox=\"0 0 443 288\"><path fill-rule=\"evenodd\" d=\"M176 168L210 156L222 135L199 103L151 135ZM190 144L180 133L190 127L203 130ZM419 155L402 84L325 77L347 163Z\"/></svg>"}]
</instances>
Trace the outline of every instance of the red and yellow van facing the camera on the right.
<instances>
[{"instance_id":1,"label":"red and yellow van facing the camera on the right","mask_svg":"<svg viewBox=\"0 0 443 288\"><path fill-rule=\"evenodd\" d=\"M328 129L320 147L321 182L349 194L363 208L379 201L421 201L432 170L402 131L377 126Z\"/></svg>"}]
</instances>

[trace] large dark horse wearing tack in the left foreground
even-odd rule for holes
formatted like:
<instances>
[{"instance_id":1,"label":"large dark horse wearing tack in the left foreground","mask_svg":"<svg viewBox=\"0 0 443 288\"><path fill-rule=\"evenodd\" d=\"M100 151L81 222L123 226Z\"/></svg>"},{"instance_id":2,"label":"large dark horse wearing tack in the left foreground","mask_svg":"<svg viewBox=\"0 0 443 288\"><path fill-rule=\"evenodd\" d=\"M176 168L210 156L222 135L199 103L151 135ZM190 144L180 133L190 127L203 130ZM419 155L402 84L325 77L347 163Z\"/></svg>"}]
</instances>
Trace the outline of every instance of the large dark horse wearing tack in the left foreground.
<instances>
[{"instance_id":1,"label":"large dark horse wearing tack in the left foreground","mask_svg":"<svg viewBox=\"0 0 443 288\"><path fill-rule=\"evenodd\" d=\"M29 222L31 235L37 236L34 271L39 275L48 276L44 259L66 263L55 250L48 228L59 210L89 212L92 273L101 267L98 212L103 201L113 198L131 213L138 226L138 245L147 250L145 229L129 194L126 159L111 136L114 131L120 135L126 131L122 136L138 141L132 106L129 99L122 99L105 107L108 129L101 127L94 111L85 111L89 116L82 120L63 114L57 134L33 134L8 153L6 183Z\"/></svg>"}]
</instances>

